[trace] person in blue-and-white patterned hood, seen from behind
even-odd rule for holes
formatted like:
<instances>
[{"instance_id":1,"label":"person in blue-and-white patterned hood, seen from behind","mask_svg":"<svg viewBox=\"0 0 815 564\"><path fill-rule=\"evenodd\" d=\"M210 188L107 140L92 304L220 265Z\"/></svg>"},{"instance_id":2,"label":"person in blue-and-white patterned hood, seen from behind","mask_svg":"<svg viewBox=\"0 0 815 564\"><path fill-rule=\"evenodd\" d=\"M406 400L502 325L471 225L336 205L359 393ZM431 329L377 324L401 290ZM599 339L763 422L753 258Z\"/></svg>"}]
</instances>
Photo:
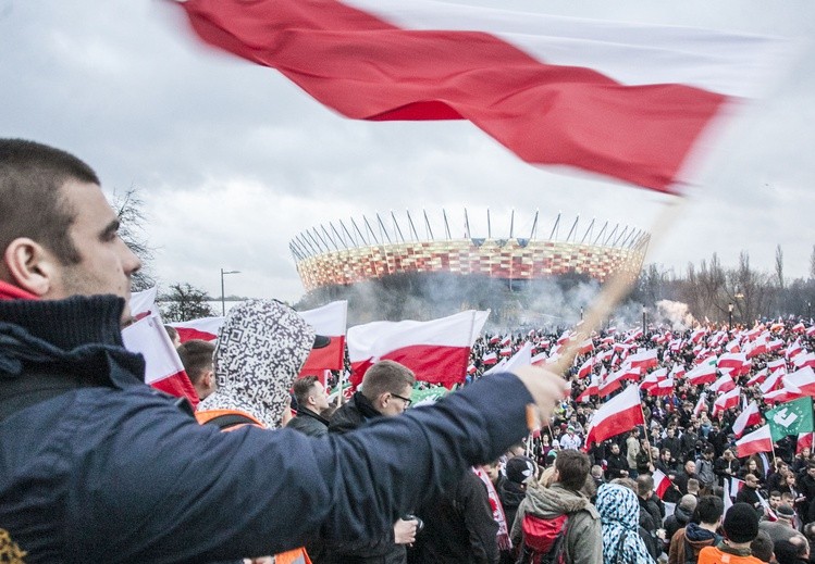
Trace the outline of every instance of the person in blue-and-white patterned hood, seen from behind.
<instances>
[{"instance_id":1,"label":"person in blue-and-white patterned hood, seen from behind","mask_svg":"<svg viewBox=\"0 0 815 564\"><path fill-rule=\"evenodd\" d=\"M654 564L640 537L637 494L618 484L603 484L596 506L603 528L603 564Z\"/></svg>"}]
</instances>

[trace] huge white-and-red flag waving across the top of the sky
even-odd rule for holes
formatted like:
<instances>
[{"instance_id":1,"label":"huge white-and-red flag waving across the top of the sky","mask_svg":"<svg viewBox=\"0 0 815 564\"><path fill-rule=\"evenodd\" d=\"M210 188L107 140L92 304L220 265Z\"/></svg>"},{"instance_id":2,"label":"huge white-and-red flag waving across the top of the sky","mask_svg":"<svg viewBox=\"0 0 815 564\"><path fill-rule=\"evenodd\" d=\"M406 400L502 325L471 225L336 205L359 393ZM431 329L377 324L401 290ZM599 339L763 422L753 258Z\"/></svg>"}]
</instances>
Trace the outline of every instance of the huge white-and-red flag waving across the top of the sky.
<instances>
[{"instance_id":1,"label":"huge white-and-red flag waving across the top of the sky","mask_svg":"<svg viewBox=\"0 0 815 564\"><path fill-rule=\"evenodd\" d=\"M370 121L469 120L534 164L660 191L731 100L777 75L788 43L433 0L187 0L208 43L276 68Z\"/></svg>"}]
</instances>

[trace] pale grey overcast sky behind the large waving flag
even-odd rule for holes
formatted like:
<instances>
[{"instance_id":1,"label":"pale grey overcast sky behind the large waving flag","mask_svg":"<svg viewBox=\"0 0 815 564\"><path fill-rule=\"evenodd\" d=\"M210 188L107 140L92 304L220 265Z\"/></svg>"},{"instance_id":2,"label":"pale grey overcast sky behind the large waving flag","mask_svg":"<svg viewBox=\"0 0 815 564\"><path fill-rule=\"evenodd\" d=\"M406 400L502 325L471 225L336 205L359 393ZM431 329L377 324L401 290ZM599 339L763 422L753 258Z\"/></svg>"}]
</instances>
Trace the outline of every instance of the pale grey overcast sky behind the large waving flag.
<instances>
[{"instance_id":1,"label":"pale grey overcast sky behind the large waving flag","mask_svg":"<svg viewBox=\"0 0 815 564\"><path fill-rule=\"evenodd\" d=\"M459 2L466 3L466 2ZM815 37L815 2L482 0L484 5ZM226 292L296 301L304 288L288 241L318 225L374 212L440 217L473 236L531 227L559 211L651 230L666 197L524 164L467 122L353 122L276 72L203 47L183 11L158 0L0 0L0 136L66 149L108 191L147 202L153 273ZM806 42L773 95L742 113L697 172L649 261L684 270L716 251L749 251L771 271L806 276L815 243L815 47ZM416 216L415 216L416 217ZM1 218L0 218L1 221ZM482 227L481 227L482 226ZM568 229L566 229L568 230ZM595 231L596 233L596 231ZM455 233L454 233L455 235ZM561 229L561 236L565 236Z\"/></svg>"}]
</instances>

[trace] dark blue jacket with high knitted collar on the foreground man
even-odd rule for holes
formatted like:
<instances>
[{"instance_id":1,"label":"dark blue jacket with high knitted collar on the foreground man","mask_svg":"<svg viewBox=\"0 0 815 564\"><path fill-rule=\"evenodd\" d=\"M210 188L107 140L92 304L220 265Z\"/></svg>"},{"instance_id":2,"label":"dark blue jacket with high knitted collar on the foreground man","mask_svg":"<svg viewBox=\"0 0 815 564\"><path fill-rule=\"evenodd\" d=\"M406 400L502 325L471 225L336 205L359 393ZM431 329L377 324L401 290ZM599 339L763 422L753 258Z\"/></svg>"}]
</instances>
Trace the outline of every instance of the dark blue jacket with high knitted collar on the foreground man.
<instances>
[{"instance_id":1,"label":"dark blue jacket with high knitted collar on the foreground man","mask_svg":"<svg viewBox=\"0 0 815 564\"><path fill-rule=\"evenodd\" d=\"M220 433L141 383L123 304L0 302L0 529L28 563L199 563L381 538L527 434L532 399L506 374L342 436ZM27 378L42 385L21 394ZM44 399L54 383L66 389Z\"/></svg>"}]
</instances>

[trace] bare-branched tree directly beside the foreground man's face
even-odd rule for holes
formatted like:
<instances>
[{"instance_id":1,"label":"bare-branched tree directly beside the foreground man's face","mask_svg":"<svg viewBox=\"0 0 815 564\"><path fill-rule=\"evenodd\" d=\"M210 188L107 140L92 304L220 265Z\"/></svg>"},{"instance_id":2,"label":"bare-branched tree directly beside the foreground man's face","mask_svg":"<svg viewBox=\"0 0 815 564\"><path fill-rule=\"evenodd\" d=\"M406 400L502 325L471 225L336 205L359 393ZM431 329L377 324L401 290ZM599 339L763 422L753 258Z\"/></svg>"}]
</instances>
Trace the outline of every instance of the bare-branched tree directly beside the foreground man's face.
<instances>
[{"instance_id":1,"label":"bare-branched tree directly beside the foreground man's face","mask_svg":"<svg viewBox=\"0 0 815 564\"><path fill-rule=\"evenodd\" d=\"M155 248L148 243L145 226L148 223L145 202L138 190L129 187L122 192L113 192L113 211L121 224L119 235L129 249L141 261L141 268L133 276L133 291L146 290L156 286L156 278L150 272Z\"/></svg>"}]
</instances>

